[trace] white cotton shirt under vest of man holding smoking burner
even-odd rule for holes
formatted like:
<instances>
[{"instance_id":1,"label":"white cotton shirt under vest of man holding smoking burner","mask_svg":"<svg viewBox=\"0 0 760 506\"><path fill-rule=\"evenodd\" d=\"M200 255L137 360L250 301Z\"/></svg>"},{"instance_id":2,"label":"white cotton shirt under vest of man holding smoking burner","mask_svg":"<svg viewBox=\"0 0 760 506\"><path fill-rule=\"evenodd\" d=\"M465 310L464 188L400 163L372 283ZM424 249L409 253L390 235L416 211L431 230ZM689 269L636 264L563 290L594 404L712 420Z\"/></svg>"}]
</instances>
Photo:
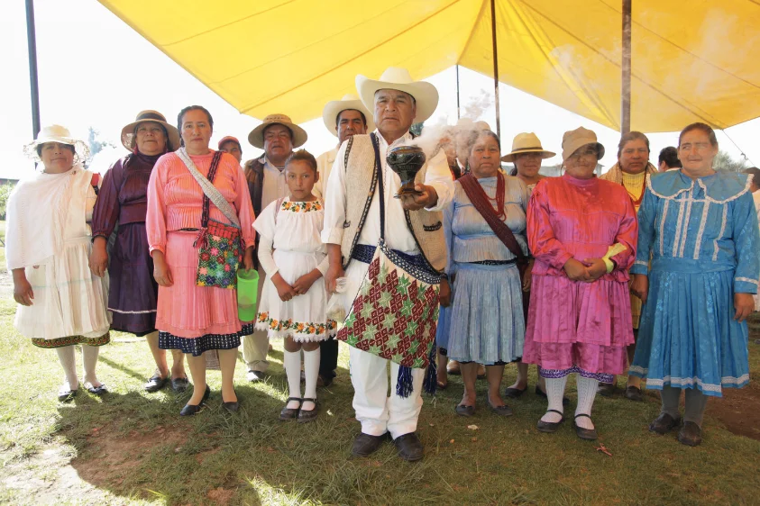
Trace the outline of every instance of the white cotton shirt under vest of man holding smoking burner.
<instances>
[{"instance_id":1,"label":"white cotton shirt under vest of man holding smoking burner","mask_svg":"<svg viewBox=\"0 0 760 506\"><path fill-rule=\"evenodd\" d=\"M375 131L380 141L380 163L383 168L383 189L385 191L385 210L386 210L386 244L391 249L396 249L404 253L418 255L419 249L415 243L412 233L407 228L407 221L404 216L404 209L401 207L401 201L394 198L401 187L401 179L393 170L388 167L386 155L389 148L409 144L412 140L411 134L407 131L403 137L395 140L390 146L388 142ZM345 222L345 147L346 142L338 149L335 157L333 170L327 181L327 194L329 199L325 201L325 229L322 230L322 241L327 244L341 244L343 240L343 223ZM453 198L453 181L452 173L449 169L444 151L438 152L435 157L427 161L427 173L425 184L433 186L438 194L438 202L435 207L427 208L427 211L442 211ZM362 232L359 234L358 244L376 246L380 240L380 192L375 191L370 204L370 211L364 221Z\"/></svg>"}]
</instances>

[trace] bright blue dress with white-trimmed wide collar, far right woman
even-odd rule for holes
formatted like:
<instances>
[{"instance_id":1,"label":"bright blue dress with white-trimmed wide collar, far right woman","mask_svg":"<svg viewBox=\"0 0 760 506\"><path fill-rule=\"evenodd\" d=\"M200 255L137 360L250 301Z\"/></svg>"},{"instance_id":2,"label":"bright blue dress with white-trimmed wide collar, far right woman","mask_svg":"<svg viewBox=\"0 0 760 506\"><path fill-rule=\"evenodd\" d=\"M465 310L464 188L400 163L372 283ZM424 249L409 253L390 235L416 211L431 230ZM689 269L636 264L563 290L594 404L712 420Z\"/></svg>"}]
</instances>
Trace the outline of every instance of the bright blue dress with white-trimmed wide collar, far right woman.
<instances>
[{"instance_id":1,"label":"bright blue dress with white-trimmed wide collar, far right woman","mask_svg":"<svg viewBox=\"0 0 760 506\"><path fill-rule=\"evenodd\" d=\"M749 382L747 325L734 320L734 294L757 292L759 247L745 175L648 178L631 273L649 276L649 293L630 374L646 377L647 388L715 396Z\"/></svg>"}]
</instances>

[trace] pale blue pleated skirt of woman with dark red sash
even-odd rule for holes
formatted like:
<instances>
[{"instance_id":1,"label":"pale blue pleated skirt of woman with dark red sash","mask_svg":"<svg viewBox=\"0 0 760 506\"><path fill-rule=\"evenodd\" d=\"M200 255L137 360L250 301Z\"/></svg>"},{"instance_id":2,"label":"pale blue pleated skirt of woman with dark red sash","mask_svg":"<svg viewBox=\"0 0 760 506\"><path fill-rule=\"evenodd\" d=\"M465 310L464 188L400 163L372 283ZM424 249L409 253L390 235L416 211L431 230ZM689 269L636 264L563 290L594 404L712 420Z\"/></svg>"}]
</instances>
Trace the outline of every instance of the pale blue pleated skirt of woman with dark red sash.
<instances>
[{"instance_id":1,"label":"pale blue pleated skirt of woman with dark red sash","mask_svg":"<svg viewBox=\"0 0 760 506\"><path fill-rule=\"evenodd\" d=\"M515 264L457 264L449 310L444 348L452 360L491 366L522 357L525 318Z\"/></svg>"}]
</instances>

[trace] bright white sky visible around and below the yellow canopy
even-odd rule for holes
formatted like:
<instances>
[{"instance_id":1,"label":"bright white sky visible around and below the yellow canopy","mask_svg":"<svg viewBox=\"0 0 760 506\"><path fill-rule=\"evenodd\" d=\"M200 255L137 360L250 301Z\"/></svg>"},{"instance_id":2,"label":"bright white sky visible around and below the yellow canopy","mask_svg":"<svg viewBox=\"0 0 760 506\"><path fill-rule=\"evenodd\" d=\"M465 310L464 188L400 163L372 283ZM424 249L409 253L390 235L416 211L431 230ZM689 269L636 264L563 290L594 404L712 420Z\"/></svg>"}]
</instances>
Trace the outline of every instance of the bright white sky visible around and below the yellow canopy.
<instances>
[{"instance_id":1,"label":"bright white sky visible around and below the yellow canopy","mask_svg":"<svg viewBox=\"0 0 760 506\"><path fill-rule=\"evenodd\" d=\"M179 110L201 104L214 116L212 144L225 135L243 141L243 158L260 154L247 143L248 132L260 123L238 113L195 77L154 48L148 41L111 14L96 0L36 0L37 58L40 82L41 123L59 123L75 137L87 138L87 127L101 132L101 139L118 148L94 161L96 170L105 170L116 158L124 156L119 135L124 124L132 122L143 109L155 109L176 122ZM0 156L5 160L0 177L19 177L32 170L23 158L23 144L32 140L32 114L29 92L29 67L26 45L24 2L4 2L0 19L0 68L3 68L3 93L0 94ZM636 55L634 55L636 58ZM376 78L377 76L370 76ZM268 77L269 78L269 77ZM439 91L440 102L429 122L456 122L456 80L454 68L426 79ZM477 111L478 118L495 130L493 81L466 68L460 68L462 112ZM597 132L607 148L601 163L609 167L616 161L619 134L577 114L501 85L502 151L508 152L513 137L521 131L534 131L544 148L559 153L564 131L584 126ZM288 111L272 111L286 113ZM305 146L315 156L332 149L336 142L321 118L302 125L308 132ZM685 125L684 125L685 126ZM728 129L753 162L760 165L760 119ZM676 132L648 133L652 159L660 149L675 145ZM718 133L720 148L739 158L740 151L723 133ZM559 163L560 158L545 161Z\"/></svg>"}]
</instances>

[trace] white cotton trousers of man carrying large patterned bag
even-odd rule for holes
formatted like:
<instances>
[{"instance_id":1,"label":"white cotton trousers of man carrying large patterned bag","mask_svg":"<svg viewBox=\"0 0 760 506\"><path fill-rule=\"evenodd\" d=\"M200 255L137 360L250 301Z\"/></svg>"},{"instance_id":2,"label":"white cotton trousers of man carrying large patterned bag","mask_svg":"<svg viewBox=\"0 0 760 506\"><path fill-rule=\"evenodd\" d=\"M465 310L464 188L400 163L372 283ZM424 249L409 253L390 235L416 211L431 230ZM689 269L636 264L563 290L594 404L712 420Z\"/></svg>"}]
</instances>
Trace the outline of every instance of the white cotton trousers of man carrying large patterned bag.
<instances>
[{"instance_id":1,"label":"white cotton trousers of man carrying large patterned bag","mask_svg":"<svg viewBox=\"0 0 760 506\"><path fill-rule=\"evenodd\" d=\"M353 259L346 269L344 305L346 314L351 311L353 298L362 286L370 266ZM349 368L353 384L353 409L362 432L382 436L390 432L398 438L417 430L419 411L422 410L422 383L425 369L412 369L414 389L408 397L396 394L398 364L390 362L390 395L388 390L388 363L390 361L357 348L349 348Z\"/></svg>"}]
</instances>

